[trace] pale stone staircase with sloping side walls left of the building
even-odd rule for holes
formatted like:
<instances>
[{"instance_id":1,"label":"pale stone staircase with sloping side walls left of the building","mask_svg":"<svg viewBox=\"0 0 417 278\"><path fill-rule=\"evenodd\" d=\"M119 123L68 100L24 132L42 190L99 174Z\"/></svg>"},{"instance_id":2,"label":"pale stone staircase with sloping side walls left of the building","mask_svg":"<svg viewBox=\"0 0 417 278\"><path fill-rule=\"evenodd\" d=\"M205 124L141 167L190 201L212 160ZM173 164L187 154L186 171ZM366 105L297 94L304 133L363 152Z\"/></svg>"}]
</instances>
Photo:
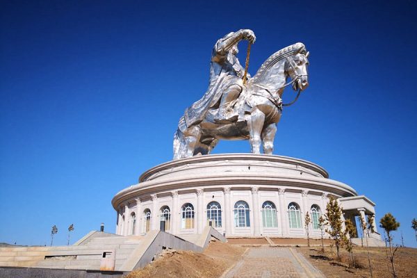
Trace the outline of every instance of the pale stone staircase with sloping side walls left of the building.
<instances>
[{"instance_id":1,"label":"pale stone staircase with sloping side walls left of the building","mask_svg":"<svg viewBox=\"0 0 417 278\"><path fill-rule=\"evenodd\" d=\"M71 246L0 247L0 277L5 273L10 276L13 271L15 277L17 273L19 277L33 276L34 272L22 275L21 268L120 272L117 275L121 277L123 273L147 265L167 248L202 252L212 237L226 241L218 231L206 227L202 234L184 235L184 238L157 230L149 231L146 236L92 231ZM74 272L71 277L86 277L83 275L88 273Z\"/></svg>"}]
</instances>

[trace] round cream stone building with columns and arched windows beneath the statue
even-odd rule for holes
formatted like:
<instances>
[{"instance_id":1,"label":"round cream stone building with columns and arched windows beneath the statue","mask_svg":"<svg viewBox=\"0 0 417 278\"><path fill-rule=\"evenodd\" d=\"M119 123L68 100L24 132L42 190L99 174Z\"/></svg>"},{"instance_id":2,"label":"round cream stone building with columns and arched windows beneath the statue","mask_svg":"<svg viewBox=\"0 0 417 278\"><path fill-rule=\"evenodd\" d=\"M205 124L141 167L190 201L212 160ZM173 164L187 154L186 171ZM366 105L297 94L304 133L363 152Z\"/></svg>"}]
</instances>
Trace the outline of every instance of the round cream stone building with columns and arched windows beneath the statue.
<instances>
[{"instance_id":1,"label":"round cream stone building with columns and arched windows beneath the statue","mask_svg":"<svg viewBox=\"0 0 417 278\"><path fill-rule=\"evenodd\" d=\"M201 234L211 225L227 237L320 237L318 219L329 196L343 217L375 215L375 204L325 169L298 158L265 154L215 154L170 161L144 172L139 183L113 197L116 234L163 229L177 236ZM380 240L375 233L371 238Z\"/></svg>"}]
</instances>

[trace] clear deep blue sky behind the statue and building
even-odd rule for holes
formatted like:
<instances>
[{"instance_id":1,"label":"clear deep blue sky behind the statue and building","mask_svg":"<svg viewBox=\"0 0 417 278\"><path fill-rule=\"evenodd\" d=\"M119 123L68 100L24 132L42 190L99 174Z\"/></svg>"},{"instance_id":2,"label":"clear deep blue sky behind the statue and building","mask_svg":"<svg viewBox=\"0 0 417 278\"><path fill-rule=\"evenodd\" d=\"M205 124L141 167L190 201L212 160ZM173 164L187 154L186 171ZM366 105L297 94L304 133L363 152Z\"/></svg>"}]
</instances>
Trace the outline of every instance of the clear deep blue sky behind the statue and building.
<instances>
[{"instance_id":1,"label":"clear deep blue sky behind the statue and building","mask_svg":"<svg viewBox=\"0 0 417 278\"><path fill-rule=\"evenodd\" d=\"M3 0L0 15L0 242L49 245L54 224L59 245L72 223L72 243L101 222L114 232L111 199L172 159L215 41L251 28L252 75L295 42L311 52L274 154L325 167L377 204L378 222L393 213L396 243L402 231L417 246L415 1Z\"/></svg>"}]
</instances>

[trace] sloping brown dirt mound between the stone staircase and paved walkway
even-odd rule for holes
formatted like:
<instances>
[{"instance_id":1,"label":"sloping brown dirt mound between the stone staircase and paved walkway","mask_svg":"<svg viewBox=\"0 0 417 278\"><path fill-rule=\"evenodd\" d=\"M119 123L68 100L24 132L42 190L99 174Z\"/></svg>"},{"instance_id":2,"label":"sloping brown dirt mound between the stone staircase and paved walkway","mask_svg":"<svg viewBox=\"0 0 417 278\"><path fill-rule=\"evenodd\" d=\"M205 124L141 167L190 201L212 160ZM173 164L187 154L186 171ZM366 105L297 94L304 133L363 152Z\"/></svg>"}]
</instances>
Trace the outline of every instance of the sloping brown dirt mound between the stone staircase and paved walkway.
<instances>
[{"instance_id":1,"label":"sloping brown dirt mound between the stone staircase and paved walkway","mask_svg":"<svg viewBox=\"0 0 417 278\"><path fill-rule=\"evenodd\" d=\"M132 271L126 278L220 277L240 260L245 250L245 247L219 241L211 242L203 253L167 250L156 261L145 268Z\"/></svg>"}]
</instances>

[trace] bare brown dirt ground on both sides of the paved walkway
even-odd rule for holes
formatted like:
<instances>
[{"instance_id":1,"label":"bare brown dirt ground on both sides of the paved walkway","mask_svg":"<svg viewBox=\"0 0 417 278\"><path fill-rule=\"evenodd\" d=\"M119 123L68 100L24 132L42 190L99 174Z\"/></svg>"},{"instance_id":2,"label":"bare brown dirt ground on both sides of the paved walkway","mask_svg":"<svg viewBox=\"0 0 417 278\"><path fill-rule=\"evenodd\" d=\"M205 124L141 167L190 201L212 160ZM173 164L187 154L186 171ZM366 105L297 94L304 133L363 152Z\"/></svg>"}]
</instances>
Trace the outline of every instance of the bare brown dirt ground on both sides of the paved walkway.
<instances>
[{"instance_id":1,"label":"bare brown dirt ground on both sides of the paved walkway","mask_svg":"<svg viewBox=\"0 0 417 278\"><path fill-rule=\"evenodd\" d=\"M239 245L265 244L263 238L235 238L229 239L229 243L219 241L211 242L203 253L189 251L168 250L145 268L131 272L126 278L150 278L150 277L184 277L184 278L215 278L231 269L242 258L247 247ZM294 241L294 242L293 242ZM302 240L303 241L303 240ZM302 244L297 239L284 240L282 244ZM266 242L266 240L265 240ZM274 239L274 242L279 244ZM315 243L316 244L316 243ZM317 243L318 244L318 243ZM336 261L336 248L325 247L325 253L320 252L320 247L295 247L316 268L329 278L359 278L370 277L368 268L368 256L366 248L354 247L354 256L361 268L349 268L350 256L341 249L341 262ZM392 277L391 264L386 259L384 247L370 247L373 277ZM417 277L417 249L399 248L395 253L395 270L398 277Z\"/></svg>"}]
</instances>

